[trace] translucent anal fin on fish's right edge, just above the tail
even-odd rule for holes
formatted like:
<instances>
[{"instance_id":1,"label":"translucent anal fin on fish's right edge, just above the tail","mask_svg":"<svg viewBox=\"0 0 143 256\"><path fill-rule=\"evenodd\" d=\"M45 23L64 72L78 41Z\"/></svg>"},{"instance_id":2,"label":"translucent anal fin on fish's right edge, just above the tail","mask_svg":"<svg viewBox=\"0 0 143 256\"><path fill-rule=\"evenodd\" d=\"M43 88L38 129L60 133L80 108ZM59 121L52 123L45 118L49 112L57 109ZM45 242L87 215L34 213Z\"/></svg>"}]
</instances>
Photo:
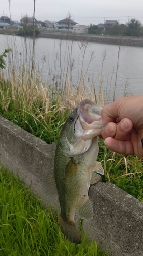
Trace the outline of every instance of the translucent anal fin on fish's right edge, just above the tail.
<instances>
[{"instance_id":1,"label":"translucent anal fin on fish's right edge, just above the tail","mask_svg":"<svg viewBox=\"0 0 143 256\"><path fill-rule=\"evenodd\" d=\"M93 219L93 207L89 198L77 208L76 214L82 219Z\"/></svg>"}]
</instances>

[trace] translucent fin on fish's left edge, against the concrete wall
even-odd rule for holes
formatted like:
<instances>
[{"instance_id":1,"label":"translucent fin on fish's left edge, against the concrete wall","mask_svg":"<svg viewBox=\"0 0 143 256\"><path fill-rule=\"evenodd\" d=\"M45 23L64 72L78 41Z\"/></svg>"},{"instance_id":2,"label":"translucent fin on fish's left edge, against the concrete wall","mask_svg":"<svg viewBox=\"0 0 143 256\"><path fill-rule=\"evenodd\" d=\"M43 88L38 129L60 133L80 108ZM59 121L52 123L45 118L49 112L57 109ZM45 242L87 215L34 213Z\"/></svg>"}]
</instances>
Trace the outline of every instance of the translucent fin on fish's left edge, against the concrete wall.
<instances>
[{"instance_id":1,"label":"translucent fin on fish's left edge, against the concrete wall","mask_svg":"<svg viewBox=\"0 0 143 256\"><path fill-rule=\"evenodd\" d=\"M48 200L54 201L58 198L58 190L56 188L54 173L49 173L42 184L44 193L46 194Z\"/></svg>"}]
</instances>

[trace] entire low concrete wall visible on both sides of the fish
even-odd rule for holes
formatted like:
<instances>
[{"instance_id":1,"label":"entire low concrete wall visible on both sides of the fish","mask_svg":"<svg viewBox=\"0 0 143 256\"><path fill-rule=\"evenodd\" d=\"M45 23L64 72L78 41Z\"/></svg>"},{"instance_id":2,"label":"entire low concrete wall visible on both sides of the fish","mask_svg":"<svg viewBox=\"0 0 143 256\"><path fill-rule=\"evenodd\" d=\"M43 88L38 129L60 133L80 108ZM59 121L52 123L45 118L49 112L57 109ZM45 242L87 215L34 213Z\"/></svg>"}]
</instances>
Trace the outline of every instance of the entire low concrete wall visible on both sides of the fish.
<instances>
[{"instance_id":1,"label":"entire low concrete wall visible on both sides of the fish","mask_svg":"<svg viewBox=\"0 0 143 256\"><path fill-rule=\"evenodd\" d=\"M0 162L26 185L32 182L33 191L46 200L41 184L53 167L50 145L1 116ZM84 222L89 237L113 256L143 256L143 203L108 182L92 185L89 196L94 209L93 220Z\"/></svg>"}]
</instances>

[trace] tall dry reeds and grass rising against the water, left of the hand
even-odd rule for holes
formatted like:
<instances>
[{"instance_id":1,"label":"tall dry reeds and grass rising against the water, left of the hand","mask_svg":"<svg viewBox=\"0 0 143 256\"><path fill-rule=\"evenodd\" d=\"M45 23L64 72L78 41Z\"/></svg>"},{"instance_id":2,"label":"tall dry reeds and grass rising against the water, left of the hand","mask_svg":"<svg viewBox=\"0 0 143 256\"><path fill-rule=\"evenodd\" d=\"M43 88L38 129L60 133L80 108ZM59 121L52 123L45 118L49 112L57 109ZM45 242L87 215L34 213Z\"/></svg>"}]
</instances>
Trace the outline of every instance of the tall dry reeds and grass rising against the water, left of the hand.
<instances>
[{"instance_id":1,"label":"tall dry reeds and grass rising against the water, left of the hand","mask_svg":"<svg viewBox=\"0 0 143 256\"><path fill-rule=\"evenodd\" d=\"M35 0L33 18L35 19ZM42 68L39 70L35 63L35 26L33 28L32 44L31 40L28 41L26 37L22 40L23 53L19 53L17 50L15 36L12 36L11 42L8 41L8 48L10 48L11 43L12 53L8 53L7 68L0 70L0 108L2 115L7 116L28 132L41 136L43 139L43 136L44 138L46 136L44 131L48 133L53 127L55 127L54 130L57 131L56 136L58 136L59 128L69 112L83 99L88 98L104 105L102 82L106 52L102 56L101 74L98 77L99 93L96 91L94 81L88 77L89 66L95 57L94 51L89 51L88 41L78 43L81 61L78 63L77 84L73 85L72 83L74 34L71 41L68 34L66 41L63 41L61 35L59 53L55 52L54 48L54 67L49 66L47 80L42 81ZM64 60L62 60L63 44L65 47ZM89 54L89 62L85 66L84 60L87 53ZM42 67L44 67L46 60L44 56L42 59ZM118 72L118 62L116 74ZM39 130L40 125L43 129ZM56 140L55 137L50 136L47 142L50 143L54 139Z\"/></svg>"}]
</instances>

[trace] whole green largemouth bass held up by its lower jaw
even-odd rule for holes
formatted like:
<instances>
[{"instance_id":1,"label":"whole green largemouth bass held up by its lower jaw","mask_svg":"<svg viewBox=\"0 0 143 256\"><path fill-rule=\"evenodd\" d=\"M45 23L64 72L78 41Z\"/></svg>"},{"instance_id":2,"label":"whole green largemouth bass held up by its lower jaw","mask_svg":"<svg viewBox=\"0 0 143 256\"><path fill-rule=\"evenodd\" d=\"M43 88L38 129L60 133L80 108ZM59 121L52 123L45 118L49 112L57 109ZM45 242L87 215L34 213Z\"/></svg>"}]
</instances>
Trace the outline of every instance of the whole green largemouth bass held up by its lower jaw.
<instances>
[{"instance_id":1,"label":"whole green largemouth bass held up by its lower jaw","mask_svg":"<svg viewBox=\"0 0 143 256\"><path fill-rule=\"evenodd\" d=\"M105 125L101 106L91 100L82 101L70 114L60 132L55 149L54 172L44 182L49 200L59 197L61 212L59 226L73 243L80 244L81 236L75 224L75 214L83 219L93 218L88 196L92 172L104 174L97 162L97 136Z\"/></svg>"}]
</instances>

